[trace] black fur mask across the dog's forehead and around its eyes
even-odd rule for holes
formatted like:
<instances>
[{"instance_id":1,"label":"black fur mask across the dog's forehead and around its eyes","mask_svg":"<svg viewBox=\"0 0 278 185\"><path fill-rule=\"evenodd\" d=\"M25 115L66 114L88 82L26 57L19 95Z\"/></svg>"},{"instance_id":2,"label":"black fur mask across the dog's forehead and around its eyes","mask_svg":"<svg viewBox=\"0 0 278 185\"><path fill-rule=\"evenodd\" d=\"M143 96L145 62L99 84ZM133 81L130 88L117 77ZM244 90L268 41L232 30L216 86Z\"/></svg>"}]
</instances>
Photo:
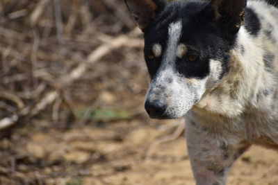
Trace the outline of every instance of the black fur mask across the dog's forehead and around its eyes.
<instances>
[{"instance_id":1,"label":"black fur mask across the dog's forehead and around its eyes","mask_svg":"<svg viewBox=\"0 0 278 185\"><path fill-rule=\"evenodd\" d=\"M182 35L179 43L188 46L187 55L197 55L195 62L188 62L187 55L177 58L177 73L185 78L205 78L210 73L210 60L222 62L222 73L228 71L228 51L234 47L234 41L227 39L227 33L213 19L212 12L204 11L208 1L172 1L156 16L151 26L145 31L145 56L152 51L153 44L159 43L163 51L167 48L168 27L171 23L182 20ZM163 53L164 54L164 53ZM150 76L153 78L161 66L161 58L145 58ZM173 61L169 61L173 62Z\"/></svg>"}]
</instances>

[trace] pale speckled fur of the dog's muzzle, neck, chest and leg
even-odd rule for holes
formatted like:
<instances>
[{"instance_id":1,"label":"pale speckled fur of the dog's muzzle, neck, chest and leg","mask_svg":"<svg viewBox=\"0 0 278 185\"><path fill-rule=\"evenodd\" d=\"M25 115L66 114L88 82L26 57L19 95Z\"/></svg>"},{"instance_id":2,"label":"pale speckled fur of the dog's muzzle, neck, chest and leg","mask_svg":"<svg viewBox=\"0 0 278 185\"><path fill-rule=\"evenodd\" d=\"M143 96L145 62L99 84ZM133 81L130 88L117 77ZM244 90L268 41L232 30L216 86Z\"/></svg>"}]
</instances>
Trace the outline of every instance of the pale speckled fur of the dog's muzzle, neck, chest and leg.
<instances>
[{"instance_id":1,"label":"pale speckled fur of the dog's muzzle, neck, chest and leg","mask_svg":"<svg viewBox=\"0 0 278 185\"><path fill-rule=\"evenodd\" d=\"M174 58L185 55L187 46L175 38L174 44L167 42L162 67L147 92L147 100L166 103L167 118L186 116L188 155L197 185L226 184L231 166L252 144L278 150L278 8L259 0L247 1L247 8L259 17L259 32L250 33L240 22L224 76L220 78L222 64L215 59L205 78L180 76ZM170 25L178 31L182 27L179 17Z\"/></svg>"}]
</instances>

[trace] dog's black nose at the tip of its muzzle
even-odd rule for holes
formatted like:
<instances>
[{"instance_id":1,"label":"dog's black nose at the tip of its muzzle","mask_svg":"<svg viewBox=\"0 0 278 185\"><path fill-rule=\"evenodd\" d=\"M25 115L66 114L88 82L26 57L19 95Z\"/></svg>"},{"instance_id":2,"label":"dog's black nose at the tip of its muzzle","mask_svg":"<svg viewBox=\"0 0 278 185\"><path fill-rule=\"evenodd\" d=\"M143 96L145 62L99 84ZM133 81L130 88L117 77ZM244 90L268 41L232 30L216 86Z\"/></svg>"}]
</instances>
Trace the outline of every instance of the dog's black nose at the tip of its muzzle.
<instances>
[{"instance_id":1,"label":"dog's black nose at the tip of its muzzle","mask_svg":"<svg viewBox=\"0 0 278 185\"><path fill-rule=\"evenodd\" d=\"M159 118L165 113L166 105L161 100L154 100L152 102L147 100L145 109L151 118Z\"/></svg>"}]
</instances>

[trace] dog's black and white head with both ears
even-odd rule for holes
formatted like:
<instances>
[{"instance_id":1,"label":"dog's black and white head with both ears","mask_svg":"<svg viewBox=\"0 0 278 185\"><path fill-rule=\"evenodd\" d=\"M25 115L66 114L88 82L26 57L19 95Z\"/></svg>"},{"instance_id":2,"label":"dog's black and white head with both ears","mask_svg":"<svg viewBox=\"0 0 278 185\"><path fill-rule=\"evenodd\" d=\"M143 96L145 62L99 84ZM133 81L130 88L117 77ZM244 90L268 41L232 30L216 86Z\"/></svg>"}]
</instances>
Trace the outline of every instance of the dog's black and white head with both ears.
<instances>
[{"instance_id":1,"label":"dog's black and white head with both ears","mask_svg":"<svg viewBox=\"0 0 278 185\"><path fill-rule=\"evenodd\" d=\"M145 33L151 118L184 116L228 70L245 0L124 0Z\"/></svg>"}]
</instances>

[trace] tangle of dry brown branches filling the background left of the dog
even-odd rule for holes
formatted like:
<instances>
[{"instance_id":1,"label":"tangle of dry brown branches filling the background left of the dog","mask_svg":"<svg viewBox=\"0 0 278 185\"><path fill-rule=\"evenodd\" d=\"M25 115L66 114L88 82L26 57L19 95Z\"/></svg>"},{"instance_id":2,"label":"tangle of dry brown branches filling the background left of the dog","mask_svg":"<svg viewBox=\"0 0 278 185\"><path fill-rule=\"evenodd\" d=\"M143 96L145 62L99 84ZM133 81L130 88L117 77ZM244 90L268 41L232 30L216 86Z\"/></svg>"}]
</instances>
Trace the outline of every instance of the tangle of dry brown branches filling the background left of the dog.
<instances>
[{"instance_id":1,"label":"tangle of dry brown branches filling the background left of the dog","mask_svg":"<svg viewBox=\"0 0 278 185\"><path fill-rule=\"evenodd\" d=\"M44 123L53 126L51 122L67 128L72 118L68 112L74 115L76 107L82 111L88 105L94 109L102 106L101 94L107 91L114 96L115 91L133 91L131 83L138 83L139 92L139 82L118 83L136 77L116 63L121 62L135 73L145 72L142 64L131 62L137 60L143 45L138 38L141 31L132 30L133 18L123 11L121 0L3 0L0 4L0 132L7 136L8 128L14 131L3 139L0 182L3 178L10 181L4 181L6 184L47 184L47 179L53 177L93 176L79 168L74 173L45 175L44 165L50 169L57 166L48 157L37 160L26 154L18 160L22 150L17 149L25 147L31 132L17 132L15 128L17 123L23 123L21 127L42 123L32 124L40 130L47 127ZM116 97L111 105L117 106L118 100ZM104 106L110 106L108 103ZM28 136L22 139L22 134ZM113 134L100 139L118 138Z\"/></svg>"}]
</instances>

